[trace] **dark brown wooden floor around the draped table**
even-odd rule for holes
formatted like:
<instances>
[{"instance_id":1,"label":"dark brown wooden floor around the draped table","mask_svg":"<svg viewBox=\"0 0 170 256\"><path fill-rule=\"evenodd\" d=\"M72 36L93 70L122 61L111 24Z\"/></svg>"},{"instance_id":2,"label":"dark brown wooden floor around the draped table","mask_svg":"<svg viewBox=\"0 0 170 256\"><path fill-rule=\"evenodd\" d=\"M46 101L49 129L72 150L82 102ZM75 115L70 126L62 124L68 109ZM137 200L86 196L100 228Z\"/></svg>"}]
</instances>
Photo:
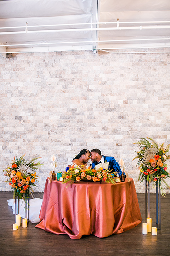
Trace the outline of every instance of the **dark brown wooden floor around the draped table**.
<instances>
[{"instance_id":1,"label":"dark brown wooden floor around the draped table","mask_svg":"<svg viewBox=\"0 0 170 256\"><path fill-rule=\"evenodd\" d=\"M35 193L36 197L39 197ZM81 239L70 239L68 235L54 235L35 228L29 223L28 228L12 229L14 215L7 199L12 199L12 192L0 192L0 255L3 256L170 256L170 194L161 197L162 229L158 235L142 235L142 223L124 233L108 238L94 235ZM155 221L155 195L150 195L151 217ZM145 194L138 194L143 222L145 222Z\"/></svg>"}]
</instances>

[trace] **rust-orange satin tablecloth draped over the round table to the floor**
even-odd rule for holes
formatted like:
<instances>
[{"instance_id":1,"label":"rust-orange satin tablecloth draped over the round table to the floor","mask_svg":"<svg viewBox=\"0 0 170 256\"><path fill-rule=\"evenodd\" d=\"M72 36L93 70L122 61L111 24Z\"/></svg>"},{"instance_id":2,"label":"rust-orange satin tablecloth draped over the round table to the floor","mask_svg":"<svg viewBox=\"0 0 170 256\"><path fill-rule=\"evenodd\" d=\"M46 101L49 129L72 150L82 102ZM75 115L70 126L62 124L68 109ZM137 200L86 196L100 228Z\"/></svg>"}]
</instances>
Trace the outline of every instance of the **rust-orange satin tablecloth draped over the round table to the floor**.
<instances>
[{"instance_id":1,"label":"rust-orange satin tablecloth draped over the round table to the floor","mask_svg":"<svg viewBox=\"0 0 170 256\"><path fill-rule=\"evenodd\" d=\"M72 239L93 234L99 238L122 233L138 225L141 213L134 181L117 183L59 181L45 184L37 228Z\"/></svg>"}]
</instances>

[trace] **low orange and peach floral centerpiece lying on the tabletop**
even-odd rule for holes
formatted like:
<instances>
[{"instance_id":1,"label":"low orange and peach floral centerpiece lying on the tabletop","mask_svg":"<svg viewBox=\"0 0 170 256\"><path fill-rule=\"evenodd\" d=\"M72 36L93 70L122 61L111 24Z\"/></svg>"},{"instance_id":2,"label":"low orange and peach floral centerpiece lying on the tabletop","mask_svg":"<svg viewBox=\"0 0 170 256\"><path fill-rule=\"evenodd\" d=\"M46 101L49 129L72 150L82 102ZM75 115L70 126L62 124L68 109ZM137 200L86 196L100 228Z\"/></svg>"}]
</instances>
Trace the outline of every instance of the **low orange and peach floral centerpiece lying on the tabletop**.
<instances>
[{"instance_id":1,"label":"low orange and peach floral centerpiece lying on the tabletop","mask_svg":"<svg viewBox=\"0 0 170 256\"><path fill-rule=\"evenodd\" d=\"M71 166L69 170L63 174L65 180L63 183L66 183L70 181L70 183L73 183L75 181L106 181L107 183L113 183L115 184L115 178L113 177L113 174L109 173L109 170L104 170L102 167L100 167L98 170L91 169L91 166L89 166L87 169L84 169L84 165L81 166Z\"/></svg>"}]
</instances>

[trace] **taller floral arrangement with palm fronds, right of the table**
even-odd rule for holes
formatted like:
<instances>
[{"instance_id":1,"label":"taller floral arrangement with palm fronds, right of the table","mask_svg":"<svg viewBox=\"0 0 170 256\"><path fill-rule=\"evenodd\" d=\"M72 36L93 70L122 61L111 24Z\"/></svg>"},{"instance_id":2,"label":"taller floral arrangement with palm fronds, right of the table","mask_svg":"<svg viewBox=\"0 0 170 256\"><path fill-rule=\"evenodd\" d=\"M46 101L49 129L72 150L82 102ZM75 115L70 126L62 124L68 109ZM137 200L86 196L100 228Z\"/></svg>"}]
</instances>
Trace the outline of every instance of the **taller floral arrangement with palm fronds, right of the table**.
<instances>
[{"instance_id":1,"label":"taller floral arrangement with palm fronds, right of the table","mask_svg":"<svg viewBox=\"0 0 170 256\"><path fill-rule=\"evenodd\" d=\"M152 143L147 139L151 140ZM141 138L134 143L138 144L140 148L140 151L135 151L137 156L134 158L138 159L136 166L140 168L138 180L147 180L149 183L153 181L156 185L159 182L163 194L162 182L168 186L165 179L170 177L170 174L166 171L168 165L165 164L165 161L170 158L167 155L169 145L165 147L164 143L160 145L151 138L147 137L147 139Z\"/></svg>"}]
</instances>

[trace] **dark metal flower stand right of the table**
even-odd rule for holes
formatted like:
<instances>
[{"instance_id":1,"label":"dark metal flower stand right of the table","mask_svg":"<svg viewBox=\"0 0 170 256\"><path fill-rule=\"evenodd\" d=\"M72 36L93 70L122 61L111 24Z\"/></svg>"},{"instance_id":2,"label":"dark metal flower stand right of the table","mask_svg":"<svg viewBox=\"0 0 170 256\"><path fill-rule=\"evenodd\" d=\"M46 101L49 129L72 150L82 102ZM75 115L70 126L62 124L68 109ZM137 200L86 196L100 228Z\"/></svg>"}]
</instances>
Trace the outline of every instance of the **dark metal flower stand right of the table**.
<instances>
[{"instance_id":1,"label":"dark metal flower stand right of the table","mask_svg":"<svg viewBox=\"0 0 170 256\"><path fill-rule=\"evenodd\" d=\"M159 187L159 192L158 192ZM158 193L159 193L159 222L158 222ZM145 218L150 218L150 183L145 181ZM156 225L157 229L161 229L161 210L160 210L160 181L156 182Z\"/></svg>"}]
</instances>

